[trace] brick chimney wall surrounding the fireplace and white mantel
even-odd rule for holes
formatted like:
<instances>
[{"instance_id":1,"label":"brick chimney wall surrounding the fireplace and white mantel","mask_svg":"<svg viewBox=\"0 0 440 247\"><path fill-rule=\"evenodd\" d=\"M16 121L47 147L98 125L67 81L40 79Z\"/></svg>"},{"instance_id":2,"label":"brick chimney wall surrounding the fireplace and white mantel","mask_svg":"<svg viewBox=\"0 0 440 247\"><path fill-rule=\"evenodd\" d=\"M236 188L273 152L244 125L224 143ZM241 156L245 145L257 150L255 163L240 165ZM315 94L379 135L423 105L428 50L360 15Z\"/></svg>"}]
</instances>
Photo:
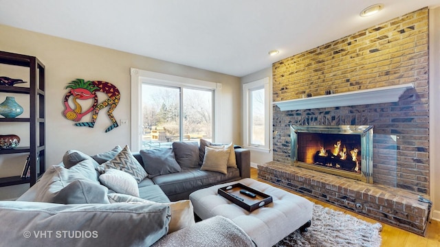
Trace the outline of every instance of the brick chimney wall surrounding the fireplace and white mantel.
<instances>
[{"instance_id":1,"label":"brick chimney wall surrounding the fireplace and white mantel","mask_svg":"<svg viewBox=\"0 0 440 247\"><path fill-rule=\"evenodd\" d=\"M274 161L290 164L289 125L371 125L373 180L429 193L428 8L272 66L273 100L412 83L399 102L281 111L274 106Z\"/></svg>"}]
</instances>

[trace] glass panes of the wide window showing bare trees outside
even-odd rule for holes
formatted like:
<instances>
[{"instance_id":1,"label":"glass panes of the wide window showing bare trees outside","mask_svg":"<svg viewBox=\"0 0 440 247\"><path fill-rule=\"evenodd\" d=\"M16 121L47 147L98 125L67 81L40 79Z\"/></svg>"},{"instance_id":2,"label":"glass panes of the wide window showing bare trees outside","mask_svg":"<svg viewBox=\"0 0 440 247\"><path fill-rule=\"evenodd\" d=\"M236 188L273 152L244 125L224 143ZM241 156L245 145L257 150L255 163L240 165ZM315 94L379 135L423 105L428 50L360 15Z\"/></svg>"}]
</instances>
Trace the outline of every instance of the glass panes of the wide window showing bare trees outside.
<instances>
[{"instance_id":1,"label":"glass panes of the wide window showing bare trees outside","mask_svg":"<svg viewBox=\"0 0 440 247\"><path fill-rule=\"evenodd\" d=\"M141 148L212 140L212 97L212 90L142 83Z\"/></svg>"}]
</instances>

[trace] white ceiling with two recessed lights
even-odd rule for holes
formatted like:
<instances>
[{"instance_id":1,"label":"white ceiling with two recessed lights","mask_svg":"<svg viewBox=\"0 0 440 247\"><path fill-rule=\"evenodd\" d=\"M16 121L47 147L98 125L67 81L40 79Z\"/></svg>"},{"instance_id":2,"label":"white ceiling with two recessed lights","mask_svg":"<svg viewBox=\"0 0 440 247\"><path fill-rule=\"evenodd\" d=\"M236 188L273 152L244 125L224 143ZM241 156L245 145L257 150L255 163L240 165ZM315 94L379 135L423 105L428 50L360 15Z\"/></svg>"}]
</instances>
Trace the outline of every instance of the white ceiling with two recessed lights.
<instances>
[{"instance_id":1,"label":"white ceiling with two recessed lights","mask_svg":"<svg viewBox=\"0 0 440 247\"><path fill-rule=\"evenodd\" d=\"M375 3L384 10L359 16ZM0 23L241 77L437 5L440 0L0 0ZM280 54L269 56L272 49Z\"/></svg>"}]
</instances>

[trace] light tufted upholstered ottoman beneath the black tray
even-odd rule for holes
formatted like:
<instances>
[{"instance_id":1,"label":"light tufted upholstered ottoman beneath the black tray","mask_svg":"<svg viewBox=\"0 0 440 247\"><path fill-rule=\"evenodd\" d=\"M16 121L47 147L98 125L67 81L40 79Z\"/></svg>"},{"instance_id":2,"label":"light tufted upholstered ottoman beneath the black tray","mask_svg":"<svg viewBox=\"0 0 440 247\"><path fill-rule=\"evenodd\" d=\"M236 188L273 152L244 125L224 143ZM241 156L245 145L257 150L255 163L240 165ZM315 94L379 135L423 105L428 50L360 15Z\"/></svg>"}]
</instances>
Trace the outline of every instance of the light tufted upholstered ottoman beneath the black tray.
<instances>
[{"instance_id":1,"label":"light tufted upholstered ottoman beneath the black tray","mask_svg":"<svg viewBox=\"0 0 440 247\"><path fill-rule=\"evenodd\" d=\"M273 202L249 212L220 196L220 187L241 183L269 196ZM292 193L251 178L199 189L190 194L195 213L206 220L215 215L229 218L248 233L256 246L273 246L290 233L310 226L313 203Z\"/></svg>"}]
</instances>

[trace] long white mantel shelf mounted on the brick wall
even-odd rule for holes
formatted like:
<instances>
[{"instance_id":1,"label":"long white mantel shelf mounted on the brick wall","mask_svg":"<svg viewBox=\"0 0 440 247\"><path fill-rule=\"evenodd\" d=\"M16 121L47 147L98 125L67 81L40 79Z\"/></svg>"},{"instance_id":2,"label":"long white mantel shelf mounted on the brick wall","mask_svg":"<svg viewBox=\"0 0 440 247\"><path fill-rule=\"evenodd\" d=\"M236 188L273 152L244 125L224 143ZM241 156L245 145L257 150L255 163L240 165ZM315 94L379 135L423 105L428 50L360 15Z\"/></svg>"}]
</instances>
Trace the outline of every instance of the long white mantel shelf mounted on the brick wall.
<instances>
[{"instance_id":1,"label":"long white mantel shelf mounted on the brick wall","mask_svg":"<svg viewBox=\"0 0 440 247\"><path fill-rule=\"evenodd\" d=\"M303 110L337 106L353 106L364 104L380 104L399 101L400 95L406 89L414 89L412 83L396 86L383 86L376 89L320 95L302 99L290 99L282 102L273 102L280 110Z\"/></svg>"}]
</instances>

